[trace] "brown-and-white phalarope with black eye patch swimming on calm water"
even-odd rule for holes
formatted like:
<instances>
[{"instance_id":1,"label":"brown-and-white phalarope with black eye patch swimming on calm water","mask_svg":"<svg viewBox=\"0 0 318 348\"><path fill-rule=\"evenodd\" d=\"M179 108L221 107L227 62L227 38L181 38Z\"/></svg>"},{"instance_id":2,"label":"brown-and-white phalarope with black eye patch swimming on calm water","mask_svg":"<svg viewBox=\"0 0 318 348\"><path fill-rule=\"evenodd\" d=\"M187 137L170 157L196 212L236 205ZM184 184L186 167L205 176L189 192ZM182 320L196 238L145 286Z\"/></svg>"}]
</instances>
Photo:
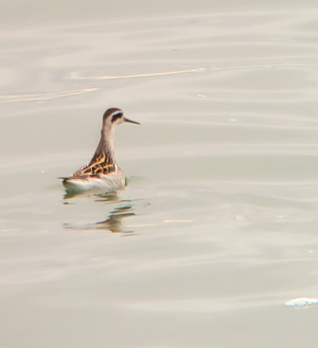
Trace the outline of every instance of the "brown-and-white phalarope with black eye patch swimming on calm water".
<instances>
[{"instance_id":1,"label":"brown-and-white phalarope with black eye patch swimming on calm water","mask_svg":"<svg viewBox=\"0 0 318 348\"><path fill-rule=\"evenodd\" d=\"M90 163L79 168L72 176L59 177L68 191L102 189L104 192L112 192L124 188L125 175L116 161L114 151L115 129L124 122L140 125L124 117L121 109L110 108L105 111L100 141Z\"/></svg>"}]
</instances>

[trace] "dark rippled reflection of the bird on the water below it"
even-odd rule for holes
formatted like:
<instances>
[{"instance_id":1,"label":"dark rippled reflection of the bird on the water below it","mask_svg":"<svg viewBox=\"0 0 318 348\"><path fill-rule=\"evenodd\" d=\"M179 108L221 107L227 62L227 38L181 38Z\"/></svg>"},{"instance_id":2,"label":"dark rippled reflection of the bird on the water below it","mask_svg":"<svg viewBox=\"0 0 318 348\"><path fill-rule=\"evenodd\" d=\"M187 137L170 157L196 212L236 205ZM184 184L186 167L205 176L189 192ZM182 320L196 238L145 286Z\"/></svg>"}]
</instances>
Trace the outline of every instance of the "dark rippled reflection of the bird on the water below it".
<instances>
[{"instance_id":1,"label":"dark rippled reflection of the bird on the water below it","mask_svg":"<svg viewBox=\"0 0 318 348\"><path fill-rule=\"evenodd\" d=\"M133 234L131 230L124 230L122 228L122 220L125 217L134 216L133 205L130 200L119 200L117 192L109 192L109 193L72 193L70 195L68 192L64 196L65 199L71 199L75 197L81 198L89 198L93 199L95 202L103 202L103 203L111 203L115 202L120 204L121 206L116 207L113 211L109 213L109 216L106 220L95 222L95 223L87 223L84 225L74 225L69 223L64 223L64 228L67 229L75 229L75 230L107 230L113 233L123 233L123 234ZM64 201L64 204L72 204L69 201ZM122 205L124 204L124 205Z\"/></svg>"}]
</instances>

